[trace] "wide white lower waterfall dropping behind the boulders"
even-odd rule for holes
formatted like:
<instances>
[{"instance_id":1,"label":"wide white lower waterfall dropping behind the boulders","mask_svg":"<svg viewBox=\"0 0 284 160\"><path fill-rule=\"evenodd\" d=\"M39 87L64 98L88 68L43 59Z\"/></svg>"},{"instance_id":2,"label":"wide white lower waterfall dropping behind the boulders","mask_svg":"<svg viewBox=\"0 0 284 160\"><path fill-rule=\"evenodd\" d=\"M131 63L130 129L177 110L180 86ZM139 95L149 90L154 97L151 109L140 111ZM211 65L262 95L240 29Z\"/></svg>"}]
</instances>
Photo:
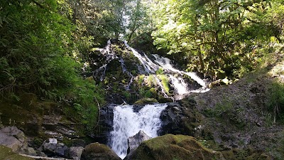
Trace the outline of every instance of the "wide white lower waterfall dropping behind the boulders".
<instances>
[{"instance_id":1,"label":"wide white lower waterfall dropping behind the boulders","mask_svg":"<svg viewBox=\"0 0 284 160\"><path fill-rule=\"evenodd\" d=\"M127 154L129 137L143 130L149 137L157 137L160 129L160 113L166 104L145 105L138 112L133 105L114 107L114 131L111 132L111 149L124 159Z\"/></svg>"}]
</instances>

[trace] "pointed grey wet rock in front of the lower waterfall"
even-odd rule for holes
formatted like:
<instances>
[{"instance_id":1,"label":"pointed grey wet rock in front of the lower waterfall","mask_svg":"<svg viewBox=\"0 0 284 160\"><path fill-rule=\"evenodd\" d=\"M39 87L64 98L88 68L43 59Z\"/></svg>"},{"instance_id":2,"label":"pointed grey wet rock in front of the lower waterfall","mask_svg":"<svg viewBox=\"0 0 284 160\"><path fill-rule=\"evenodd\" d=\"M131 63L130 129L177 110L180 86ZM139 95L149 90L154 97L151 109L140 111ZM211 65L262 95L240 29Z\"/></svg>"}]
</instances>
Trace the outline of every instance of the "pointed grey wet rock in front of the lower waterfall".
<instances>
[{"instance_id":1,"label":"pointed grey wet rock in front of the lower waterfall","mask_svg":"<svg viewBox=\"0 0 284 160\"><path fill-rule=\"evenodd\" d=\"M148 139L151 139L151 137L149 137L143 131L139 131L133 137L129 137L128 139L129 149L127 149L127 154L129 154L131 151L134 151L142 142Z\"/></svg>"}]
</instances>

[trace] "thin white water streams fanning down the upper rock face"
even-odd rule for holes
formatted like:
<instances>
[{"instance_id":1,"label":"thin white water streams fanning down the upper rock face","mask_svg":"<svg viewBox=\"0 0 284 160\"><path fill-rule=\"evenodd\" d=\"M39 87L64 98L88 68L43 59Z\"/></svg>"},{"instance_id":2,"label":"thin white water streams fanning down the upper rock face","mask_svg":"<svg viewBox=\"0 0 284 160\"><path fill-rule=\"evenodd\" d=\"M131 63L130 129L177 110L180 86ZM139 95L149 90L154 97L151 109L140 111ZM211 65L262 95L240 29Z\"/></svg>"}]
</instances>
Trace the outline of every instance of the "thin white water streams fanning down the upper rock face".
<instances>
[{"instance_id":1,"label":"thin white water streams fanning down the upper rock face","mask_svg":"<svg viewBox=\"0 0 284 160\"><path fill-rule=\"evenodd\" d=\"M107 65L109 64L109 62L111 62L111 60L117 59L121 63L121 69L123 73L129 75L129 79L127 79L128 83L124 85L124 88L125 90L131 90L131 85L133 85L133 80L135 80L136 76L133 76L130 71L133 69L135 70L135 68L132 69L129 66L126 66L124 57L122 55L116 54L111 45L111 41L109 40L107 42L107 46L103 49L100 49L101 54L106 57L106 62L103 66L101 66L97 70L94 70L93 76L99 78L99 80L101 81L104 80L104 76L106 74L105 72L108 67ZM129 54L133 54L137 58L133 59L133 61L136 60L136 70L138 70L138 74L144 74L146 75L146 78L149 75L153 75L154 81L157 84L155 85L155 87L159 88L159 92L164 97L170 97L177 100L184 97L184 95L189 94L190 92L207 92L209 90L204 80L198 77L195 73L178 70L173 66L173 61L169 58L164 58L156 54L148 56L145 53L138 53L138 51L134 48L131 48L126 43L126 41L124 41L124 47L126 50L131 50ZM161 76L156 74L160 68L162 70L162 73L158 72L158 74L163 75L163 81L162 79L160 79ZM188 81L188 78L191 78L192 80L197 82L197 84L199 84L199 88L195 85L194 88L190 88L190 86L186 83ZM167 92L165 92L165 80L167 81L167 83L169 82ZM168 90L170 91L168 92Z\"/></svg>"}]
</instances>

